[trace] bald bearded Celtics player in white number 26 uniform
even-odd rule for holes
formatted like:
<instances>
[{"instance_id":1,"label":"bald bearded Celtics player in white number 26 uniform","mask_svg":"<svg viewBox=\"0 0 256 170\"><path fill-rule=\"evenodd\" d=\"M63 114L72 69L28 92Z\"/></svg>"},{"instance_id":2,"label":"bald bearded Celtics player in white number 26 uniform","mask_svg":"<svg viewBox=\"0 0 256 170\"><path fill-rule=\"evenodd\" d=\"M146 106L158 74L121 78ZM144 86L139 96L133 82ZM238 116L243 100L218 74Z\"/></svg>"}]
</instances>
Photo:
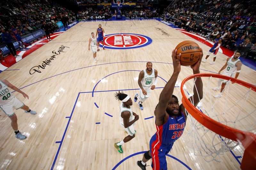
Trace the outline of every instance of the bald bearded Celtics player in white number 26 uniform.
<instances>
[{"instance_id":1,"label":"bald bearded Celtics player in white number 26 uniform","mask_svg":"<svg viewBox=\"0 0 256 170\"><path fill-rule=\"evenodd\" d=\"M146 65L147 69L140 71L138 84L140 86L139 94L136 93L134 96L134 102L139 99L140 110L143 110L142 103L149 98L151 90L154 90L157 78L157 70L152 69L152 63L148 62Z\"/></svg>"}]
</instances>

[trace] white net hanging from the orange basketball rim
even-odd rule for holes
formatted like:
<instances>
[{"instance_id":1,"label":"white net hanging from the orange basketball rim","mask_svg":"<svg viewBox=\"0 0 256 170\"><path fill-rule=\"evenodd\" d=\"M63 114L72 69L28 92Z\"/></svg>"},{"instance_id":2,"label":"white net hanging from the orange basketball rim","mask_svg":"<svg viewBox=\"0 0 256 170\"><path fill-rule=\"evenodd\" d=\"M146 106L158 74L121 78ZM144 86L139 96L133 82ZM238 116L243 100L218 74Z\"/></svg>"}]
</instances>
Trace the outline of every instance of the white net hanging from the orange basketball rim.
<instances>
[{"instance_id":1,"label":"white net hanging from the orange basketball rim","mask_svg":"<svg viewBox=\"0 0 256 170\"><path fill-rule=\"evenodd\" d=\"M230 82L222 92L222 97L215 98L213 96L219 94L220 90L214 91L212 88L217 86L218 80L218 78L202 77L204 96L197 108L222 124L255 133L256 93L243 85ZM187 98L193 95L194 82L194 79L190 79L183 86ZM180 97L182 97L181 94ZM194 101L191 103L193 104ZM220 154L242 146L238 142L212 132L190 115L188 115L186 129L188 130L185 136L187 146L193 149L196 156L203 156L207 162L212 160L220 162ZM242 150L244 152L244 148Z\"/></svg>"}]
</instances>

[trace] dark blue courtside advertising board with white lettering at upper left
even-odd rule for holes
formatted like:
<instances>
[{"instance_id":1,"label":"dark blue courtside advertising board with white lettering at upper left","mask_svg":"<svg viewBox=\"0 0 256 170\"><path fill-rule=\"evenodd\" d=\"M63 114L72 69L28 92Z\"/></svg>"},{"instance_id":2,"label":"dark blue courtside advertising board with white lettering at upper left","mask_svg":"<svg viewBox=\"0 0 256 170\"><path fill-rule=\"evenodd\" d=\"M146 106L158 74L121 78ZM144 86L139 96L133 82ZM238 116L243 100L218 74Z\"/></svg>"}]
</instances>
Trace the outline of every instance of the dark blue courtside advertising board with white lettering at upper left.
<instances>
[{"instance_id":1,"label":"dark blue courtside advertising board with white lettering at upper left","mask_svg":"<svg viewBox=\"0 0 256 170\"><path fill-rule=\"evenodd\" d=\"M43 37L44 35L45 35L44 30L40 29L40 30L34 31L32 33L29 33L27 35L21 36L21 39L24 43L26 43L26 42L30 43L32 41L35 41L35 40ZM15 49L20 47L19 43L15 39L12 40L12 43L13 43ZM10 53L10 50L8 49L8 47L6 46L5 43L0 44L0 49L3 51L3 55Z\"/></svg>"}]
</instances>

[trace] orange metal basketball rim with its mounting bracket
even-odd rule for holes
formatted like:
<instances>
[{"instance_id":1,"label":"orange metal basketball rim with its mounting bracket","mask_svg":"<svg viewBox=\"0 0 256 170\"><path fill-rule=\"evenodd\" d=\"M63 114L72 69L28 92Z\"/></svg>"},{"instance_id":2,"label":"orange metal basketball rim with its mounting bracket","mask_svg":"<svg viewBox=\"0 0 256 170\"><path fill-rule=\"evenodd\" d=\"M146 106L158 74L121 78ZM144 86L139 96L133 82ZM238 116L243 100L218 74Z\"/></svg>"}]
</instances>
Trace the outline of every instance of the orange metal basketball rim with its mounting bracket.
<instances>
[{"instance_id":1,"label":"orange metal basketball rim with its mounting bracket","mask_svg":"<svg viewBox=\"0 0 256 170\"><path fill-rule=\"evenodd\" d=\"M212 130L213 132L219 134L220 136L242 143L242 145L245 148L245 151L244 151L244 156L243 156L240 167L243 170L255 169L256 168L256 134L231 128L229 126L226 126L220 122L213 120L212 118L208 117L207 115L199 111L192 103L190 103L190 101L186 97L185 92L183 90L184 84L188 80L192 78L197 78L197 77L213 77L213 78L230 80L231 82L235 82L247 88L251 88L255 92L256 92L256 86L246 83L242 80L238 80L236 78L231 78L228 76L223 76L220 74L211 74L211 73L200 73L200 74L194 74L194 75L188 76L182 81L180 85L180 91L182 94L182 104L187 109L188 113L191 114L199 123L204 125L206 128Z\"/></svg>"}]
</instances>

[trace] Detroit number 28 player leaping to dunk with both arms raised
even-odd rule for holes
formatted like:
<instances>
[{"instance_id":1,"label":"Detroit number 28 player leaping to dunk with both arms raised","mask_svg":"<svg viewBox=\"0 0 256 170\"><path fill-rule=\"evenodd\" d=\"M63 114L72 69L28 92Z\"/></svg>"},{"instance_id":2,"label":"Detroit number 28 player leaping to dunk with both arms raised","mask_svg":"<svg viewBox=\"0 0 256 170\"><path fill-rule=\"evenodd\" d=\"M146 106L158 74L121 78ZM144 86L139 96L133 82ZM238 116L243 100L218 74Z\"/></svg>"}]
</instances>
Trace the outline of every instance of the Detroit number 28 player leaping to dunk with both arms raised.
<instances>
[{"instance_id":1,"label":"Detroit number 28 player leaping to dunk with both arms raised","mask_svg":"<svg viewBox=\"0 0 256 170\"><path fill-rule=\"evenodd\" d=\"M142 160L137 161L137 165L142 170L146 169L146 162L151 158L151 166L154 170L166 170L166 154L171 151L174 142L180 138L186 126L187 115L185 115L185 107L183 104L179 105L178 98L173 95L174 86L180 73L181 54L176 57L176 53L176 49L172 51L172 77L164 86L154 111L156 116L156 134L150 139L150 150L144 153ZM200 73L199 67L202 56L203 51L201 48L200 59L194 65L190 66L193 74ZM200 77L196 78L193 91L194 95L189 100L194 101L193 104L196 106L203 98L203 83Z\"/></svg>"}]
</instances>

